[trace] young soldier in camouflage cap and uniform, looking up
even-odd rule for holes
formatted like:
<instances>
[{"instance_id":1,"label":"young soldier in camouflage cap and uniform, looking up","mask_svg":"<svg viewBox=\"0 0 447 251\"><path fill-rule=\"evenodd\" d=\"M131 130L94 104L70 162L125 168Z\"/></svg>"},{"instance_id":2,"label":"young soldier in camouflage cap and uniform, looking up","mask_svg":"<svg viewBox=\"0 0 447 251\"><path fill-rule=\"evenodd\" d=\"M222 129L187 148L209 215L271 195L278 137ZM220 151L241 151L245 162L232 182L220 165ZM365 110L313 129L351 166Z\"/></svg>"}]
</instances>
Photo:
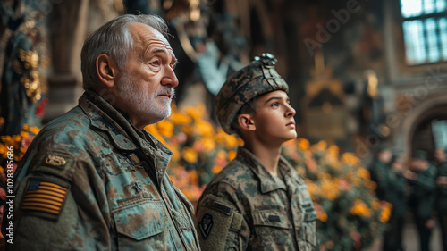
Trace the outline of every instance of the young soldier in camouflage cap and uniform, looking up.
<instances>
[{"instance_id":1,"label":"young soldier in camouflage cap and uniform, looking up","mask_svg":"<svg viewBox=\"0 0 447 251\"><path fill-rule=\"evenodd\" d=\"M316 210L304 180L280 155L296 138L288 85L262 54L215 98L223 130L244 140L198 201L202 250L316 250Z\"/></svg>"}]
</instances>

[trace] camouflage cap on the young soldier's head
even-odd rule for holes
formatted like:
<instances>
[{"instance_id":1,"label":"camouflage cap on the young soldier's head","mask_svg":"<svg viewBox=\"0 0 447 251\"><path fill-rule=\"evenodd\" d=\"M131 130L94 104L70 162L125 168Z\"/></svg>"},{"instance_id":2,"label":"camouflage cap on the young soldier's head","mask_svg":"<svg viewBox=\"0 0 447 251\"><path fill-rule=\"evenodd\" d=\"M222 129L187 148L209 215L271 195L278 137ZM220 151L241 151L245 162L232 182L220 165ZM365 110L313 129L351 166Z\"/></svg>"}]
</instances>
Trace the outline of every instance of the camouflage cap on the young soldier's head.
<instances>
[{"instance_id":1,"label":"camouflage cap on the young soldier's head","mask_svg":"<svg viewBox=\"0 0 447 251\"><path fill-rule=\"evenodd\" d=\"M274 90L289 92L286 81L274 69L275 64L273 54L256 56L249 65L234 72L223 84L215 96L215 115L226 133L236 132L232 128L234 116L252 98Z\"/></svg>"}]
</instances>

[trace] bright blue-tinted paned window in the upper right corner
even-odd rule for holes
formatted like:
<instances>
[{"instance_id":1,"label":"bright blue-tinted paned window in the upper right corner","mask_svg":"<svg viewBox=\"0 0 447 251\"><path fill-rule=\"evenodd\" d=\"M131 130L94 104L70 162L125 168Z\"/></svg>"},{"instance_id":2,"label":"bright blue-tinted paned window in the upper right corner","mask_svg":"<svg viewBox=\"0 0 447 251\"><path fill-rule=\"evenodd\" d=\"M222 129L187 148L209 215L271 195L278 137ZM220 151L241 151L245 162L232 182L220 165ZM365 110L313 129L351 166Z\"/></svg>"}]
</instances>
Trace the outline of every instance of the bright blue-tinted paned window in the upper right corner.
<instances>
[{"instance_id":1,"label":"bright blue-tinted paned window in the upper right corner","mask_svg":"<svg viewBox=\"0 0 447 251\"><path fill-rule=\"evenodd\" d=\"M409 65L447 61L447 0L401 0Z\"/></svg>"}]
</instances>

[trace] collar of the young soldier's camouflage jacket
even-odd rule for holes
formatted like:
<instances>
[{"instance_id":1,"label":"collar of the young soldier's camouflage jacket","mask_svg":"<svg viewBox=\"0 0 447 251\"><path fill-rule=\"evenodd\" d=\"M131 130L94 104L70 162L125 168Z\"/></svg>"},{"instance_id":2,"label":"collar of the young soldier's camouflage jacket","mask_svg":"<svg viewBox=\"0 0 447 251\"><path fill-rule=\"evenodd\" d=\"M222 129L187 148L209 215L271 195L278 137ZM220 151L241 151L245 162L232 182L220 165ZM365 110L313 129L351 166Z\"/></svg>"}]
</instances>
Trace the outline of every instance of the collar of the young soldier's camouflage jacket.
<instances>
[{"instance_id":1,"label":"collar of the young soldier's camouflage jacket","mask_svg":"<svg viewBox=\"0 0 447 251\"><path fill-rule=\"evenodd\" d=\"M257 156L253 155L243 146L239 146L237 158L241 162L246 163L249 166L249 169L253 173L255 173L255 175L259 179L260 189L262 193L268 193L276 189L286 190L285 180L291 179L292 173L290 165L284 161L282 156L280 156L280 161L278 163L278 172L281 172L281 174L283 175L284 182L276 181L273 175L268 172L266 167L260 162Z\"/></svg>"}]
</instances>

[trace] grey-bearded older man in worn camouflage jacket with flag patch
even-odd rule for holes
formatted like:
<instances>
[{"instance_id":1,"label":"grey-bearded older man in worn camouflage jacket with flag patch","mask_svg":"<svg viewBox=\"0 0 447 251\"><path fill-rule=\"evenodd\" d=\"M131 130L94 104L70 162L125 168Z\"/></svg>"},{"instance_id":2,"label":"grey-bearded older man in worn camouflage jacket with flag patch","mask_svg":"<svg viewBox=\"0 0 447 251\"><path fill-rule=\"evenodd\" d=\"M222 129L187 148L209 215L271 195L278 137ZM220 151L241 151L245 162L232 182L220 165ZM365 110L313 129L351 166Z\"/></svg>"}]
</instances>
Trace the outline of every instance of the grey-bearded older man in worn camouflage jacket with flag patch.
<instances>
[{"instance_id":1,"label":"grey-bearded older man in worn camouflage jacket with flag patch","mask_svg":"<svg viewBox=\"0 0 447 251\"><path fill-rule=\"evenodd\" d=\"M173 153L143 128L171 113L167 26L124 15L86 39L85 93L34 139L16 172L12 250L198 250Z\"/></svg>"}]
</instances>

